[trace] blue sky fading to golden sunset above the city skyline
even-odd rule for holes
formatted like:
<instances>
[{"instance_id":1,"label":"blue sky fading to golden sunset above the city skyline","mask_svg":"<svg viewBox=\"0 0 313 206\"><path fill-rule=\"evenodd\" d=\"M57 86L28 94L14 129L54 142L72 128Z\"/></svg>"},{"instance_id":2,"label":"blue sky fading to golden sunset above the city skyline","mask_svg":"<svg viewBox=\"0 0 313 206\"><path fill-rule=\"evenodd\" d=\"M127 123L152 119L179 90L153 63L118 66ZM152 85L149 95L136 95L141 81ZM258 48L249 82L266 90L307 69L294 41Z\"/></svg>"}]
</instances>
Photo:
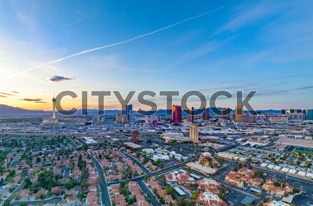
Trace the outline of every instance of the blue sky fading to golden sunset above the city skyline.
<instances>
[{"instance_id":1,"label":"blue sky fading to golden sunset above the city skyline","mask_svg":"<svg viewBox=\"0 0 313 206\"><path fill-rule=\"evenodd\" d=\"M236 91L256 90L255 110L312 109L312 11L312 1L0 1L0 104L52 110L70 90L64 109L81 108L81 91L95 109L91 91L136 91L133 109L149 109L137 95L151 90L165 109L159 91L179 91L181 105L187 91L209 102L226 90L234 97L216 106L234 108ZM113 92L105 109L121 109Z\"/></svg>"}]
</instances>

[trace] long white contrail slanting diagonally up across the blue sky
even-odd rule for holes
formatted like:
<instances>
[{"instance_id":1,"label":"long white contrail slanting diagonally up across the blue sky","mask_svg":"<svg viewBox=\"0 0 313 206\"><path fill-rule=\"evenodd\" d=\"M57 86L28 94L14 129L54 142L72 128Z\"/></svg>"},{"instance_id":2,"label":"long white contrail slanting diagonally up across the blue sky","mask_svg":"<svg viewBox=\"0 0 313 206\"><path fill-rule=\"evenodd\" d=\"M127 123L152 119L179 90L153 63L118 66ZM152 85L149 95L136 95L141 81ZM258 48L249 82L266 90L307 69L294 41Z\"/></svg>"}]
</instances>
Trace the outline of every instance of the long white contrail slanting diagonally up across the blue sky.
<instances>
[{"instance_id":1,"label":"long white contrail slanting diagonally up across the blue sky","mask_svg":"<svg viewBox=\"0 0 313 206\"><path fill-rule=\"evenodd\" d=\"M215 11L217 11L217 10L219 10L219 9L221 9L221 8L227 7L227 6L228 6L228 5L223 6L223 7L219 7L219 8L216 8L216 9L213 9L213 10L211 10L211 11L208 11L208 12L205 12L205 13L202 13L202 14L199 14L198 16L194 16L194 17L192 17L192 18L187 18L187 19L182 20L182 21L180 21L180 22L171 24L171 25L169 25L169 26L167 26L167 27L160 28L160 29L155 30L155 31L153 31L153 32L146 33L146 34L143 34L143 35L141 35L141 36L138 36L138 37L135 37L135 38L132 38L132 39L128 39L128 40L123 41L123 42L119 42L119 43L107 45L107 46L104 46L104 47L98 47L98 48L95 48L95 49L89 49L89 50L81 51L80 53L77 53L77 54L73 54L73 55L70 55L70 56L67 56L67 57L63 57L63 58L61 58L61 59L57 59L57 60L50 61L50 62L47 62L47 63L44 63L44 64L40 64L40 65L38 65L38 66L36 66L36 67L33 67L33 68L30 68L30 69L24 70L24 71L22 71L22 72L19 72L19 73L16 73L16 74L7 76L7 77L5 77L5 78L3 78L3 79L0 79L0 81L1 81L1 80L9 79L9 78L11 78L11 77L13 77L13 76L16 76L16 75L23 74L23 73L25 73L25 72L34 70L34 69L36 69L36 68L38 68L38 67L41 67L41 66L44 66L44 65L47 65L47 64L51 64L51 63L54 63L54 62L62 61L63 59L67 59L67 58L72 57L72 56L77 56L77 55L80 55L80 54L85 54L85 53L88 53L88 52L91 52L91 51L95 51L95 50L98 50L98 49L103 49L103 48L115 46L115 45L118 45L118 44L123 44L123 43L129 42L129 41L135 40L135 39L139 39L139 38L141 38L141 37L144 37L144 36L147 36L147 35L150 35L150 34L153 34L153 33L159 32L159 31L162 31L162 30L164 30L164 29L167 29L167 28L170 28L170 27L173 27L173 26L176 26L177 24L180 24L180 23L183 23L183 22L187 22L187 21L190 21L190 20L195 19L195 18L202 17L202 16L204 16L204 15L206 15L206 14L208 14L208 13L215 12Z\"/></svg>"}]
</instances>

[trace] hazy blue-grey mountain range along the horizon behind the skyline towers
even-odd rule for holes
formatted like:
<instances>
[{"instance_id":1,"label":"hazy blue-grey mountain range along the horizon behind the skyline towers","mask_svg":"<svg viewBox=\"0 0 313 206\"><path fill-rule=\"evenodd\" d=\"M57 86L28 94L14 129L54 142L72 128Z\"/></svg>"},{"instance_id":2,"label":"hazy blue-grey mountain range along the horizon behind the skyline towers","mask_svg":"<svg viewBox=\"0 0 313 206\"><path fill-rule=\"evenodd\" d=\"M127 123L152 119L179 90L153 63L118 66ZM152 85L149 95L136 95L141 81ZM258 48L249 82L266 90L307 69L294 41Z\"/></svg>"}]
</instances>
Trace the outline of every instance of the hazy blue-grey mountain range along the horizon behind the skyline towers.
<instances>
[{"instance_id":1,"label":"hazy blue-grey mountain range along the horizon behind the skyline towers","mask_svg":"<svg viewBox=\"0 0 313 206\"><path fill-rule=\"evenodd\" d=\"M212 114L212 109L209 109L210 114ZM221 109L220 107L218 107L218 109ZM89 109L88 110L88 115L89 116L94 116L95 112L98 111L96 109ZM105 115L116 115L117 112L121 112L121 110L105 110L104 114ZM172 110L157 110L155 114L157 115L165 115L166 112L168 112L167 114L172 115ZM233 111L235 112L235 111ZM261 114L265 114L265 113L269 113L271 112L271 114L280 114L281 111L280 110L261 110ZM146 112L148 113L148 112ZM183 115L188 114L188 111L184 112L183 111ZM249 111L244 111L244 114L249 114ZM19 107L13 107L13 106L8 106L8 105L3 105L0 104L0 116L20 116L20 115L42 115L42 116L52 116L52 111L43 111L43 110L27 110L27 109L22 109ZM57 116L60 116L60 114L58 112L56 112ZM81 110L78 110L75 113L76 116L80 116L81 115ZM137 111L134 111L134 115L138 115Z\"/></svg>"}]
</instances>

